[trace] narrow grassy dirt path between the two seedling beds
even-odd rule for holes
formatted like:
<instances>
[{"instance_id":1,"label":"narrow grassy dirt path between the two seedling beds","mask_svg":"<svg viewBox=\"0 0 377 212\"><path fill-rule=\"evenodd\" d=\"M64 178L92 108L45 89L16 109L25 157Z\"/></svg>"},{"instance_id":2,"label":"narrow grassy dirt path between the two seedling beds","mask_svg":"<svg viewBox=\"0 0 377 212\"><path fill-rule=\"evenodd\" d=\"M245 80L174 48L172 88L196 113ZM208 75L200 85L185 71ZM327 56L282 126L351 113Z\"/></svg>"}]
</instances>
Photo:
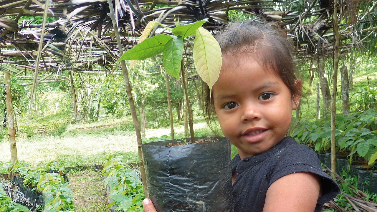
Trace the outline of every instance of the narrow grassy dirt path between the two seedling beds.
<instances>
[{"instance_id":1,"label":"narrow grassy dirt path between the two seedling beds","mask_svg":"<svg viewBox=\"0 0 377 212\"><path fill-rule=\"evenodd\" d=\"M110 212L101 172L84 170L68 174L76 212Z\"/></svg>"}]
</instances>

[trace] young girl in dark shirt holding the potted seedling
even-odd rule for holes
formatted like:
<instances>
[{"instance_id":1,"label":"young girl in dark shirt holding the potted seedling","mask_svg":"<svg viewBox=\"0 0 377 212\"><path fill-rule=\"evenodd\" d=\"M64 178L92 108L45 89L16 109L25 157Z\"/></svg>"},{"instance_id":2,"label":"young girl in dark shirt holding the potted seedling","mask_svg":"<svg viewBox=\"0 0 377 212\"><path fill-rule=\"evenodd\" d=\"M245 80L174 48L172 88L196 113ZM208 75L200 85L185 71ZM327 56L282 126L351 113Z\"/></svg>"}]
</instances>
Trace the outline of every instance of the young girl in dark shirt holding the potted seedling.
<instances>
[{"instance_id":1,"label":"young girl in dark shirt holding the potted seedling","mask_svg":"<svg viewBox=\"0 0 377 212\"><path fill-rule=\"evenodd\" d=\"M222 68L205 118L218 120L237 147L232 160L234 212L320 212L339 186L309 147L286 137L301 97L290 44L274 26L232 23L218 35ZM150 200L146 212L155 212Z\"/></svg>"}]
</instances>

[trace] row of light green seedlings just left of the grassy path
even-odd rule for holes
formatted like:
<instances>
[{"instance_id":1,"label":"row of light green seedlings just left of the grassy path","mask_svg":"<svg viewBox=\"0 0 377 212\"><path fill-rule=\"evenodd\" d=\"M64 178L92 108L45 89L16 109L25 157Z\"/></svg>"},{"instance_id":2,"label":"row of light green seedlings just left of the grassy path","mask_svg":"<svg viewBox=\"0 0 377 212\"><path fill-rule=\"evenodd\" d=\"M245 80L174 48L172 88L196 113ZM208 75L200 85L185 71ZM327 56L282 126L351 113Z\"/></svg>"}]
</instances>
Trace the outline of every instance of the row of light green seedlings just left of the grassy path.
<instances>
[{"instance_id":1,"label":"row of light green seedlings just left of the grassy path","mask_svg":"<svg viewBox=\"0 0 377 212\"><path fill-rule=\"evenodd\" d=\"M72 191L68 188L68 182L64 182L63 177L58 173L46 173L44 171L44 169L50 168L65 170L59 161L52 161L45 167L36 167L17 161L12 170L15 174L24 178L24 185L43 194L45 212L73 211L73 196Z\"/></svg>"}]
</instances>

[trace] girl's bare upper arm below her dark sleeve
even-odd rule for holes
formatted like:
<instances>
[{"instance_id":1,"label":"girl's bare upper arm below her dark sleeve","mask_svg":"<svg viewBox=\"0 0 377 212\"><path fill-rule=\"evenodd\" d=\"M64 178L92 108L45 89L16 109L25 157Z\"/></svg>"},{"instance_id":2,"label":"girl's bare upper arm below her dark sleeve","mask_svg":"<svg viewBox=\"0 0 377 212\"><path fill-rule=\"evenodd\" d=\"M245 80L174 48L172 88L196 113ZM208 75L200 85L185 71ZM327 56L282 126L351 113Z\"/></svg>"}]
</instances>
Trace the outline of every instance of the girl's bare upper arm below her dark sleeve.
<instances>
[{"instance_id":1,"label":"girl's bare upper arm below her dark sleeve","mask_svg":"<svg viewBox=\"0 0 377 212\"><path fill-rule=\"evenodd\" d=\"M267 190L263 212L313 212L320 197L320 179L296 172L274 181Z\"/></svg>"}]
</instances>

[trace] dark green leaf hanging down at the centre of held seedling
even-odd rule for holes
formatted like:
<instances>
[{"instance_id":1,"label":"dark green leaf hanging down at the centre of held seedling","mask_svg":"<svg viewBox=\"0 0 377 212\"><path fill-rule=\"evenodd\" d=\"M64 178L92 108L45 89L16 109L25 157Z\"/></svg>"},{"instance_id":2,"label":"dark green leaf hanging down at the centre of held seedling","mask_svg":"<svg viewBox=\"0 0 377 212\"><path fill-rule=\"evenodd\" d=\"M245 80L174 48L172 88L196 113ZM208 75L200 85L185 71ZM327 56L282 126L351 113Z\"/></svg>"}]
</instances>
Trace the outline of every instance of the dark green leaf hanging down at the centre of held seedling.
<instances>
[{"instance_id":1,"label":"dark green leaf hanging down at the centre of held seedling","mask_svg":"<svg viewBox=\"0 0 377 212\"><path fill-rule=\"evenodd\" d=\"M181 72L182 52L183 38L178 36L166 43L162 53L162 61L166 72L177 78L177 80L179 80L179 72Z\"/></svg>"}]
</instances>

